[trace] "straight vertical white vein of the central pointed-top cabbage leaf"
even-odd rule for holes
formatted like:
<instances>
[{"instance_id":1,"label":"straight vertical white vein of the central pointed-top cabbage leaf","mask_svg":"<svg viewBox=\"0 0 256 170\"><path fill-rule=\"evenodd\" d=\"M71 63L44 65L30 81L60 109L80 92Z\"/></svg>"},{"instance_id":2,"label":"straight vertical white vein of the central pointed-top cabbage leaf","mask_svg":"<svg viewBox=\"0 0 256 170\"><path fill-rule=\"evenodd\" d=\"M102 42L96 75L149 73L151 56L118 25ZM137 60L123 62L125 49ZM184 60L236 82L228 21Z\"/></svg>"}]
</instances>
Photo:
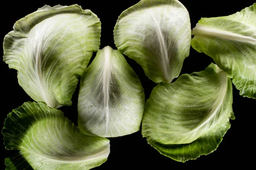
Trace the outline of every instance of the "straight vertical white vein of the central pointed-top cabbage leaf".
<instances>
[{"instance_id":1,"label":"straight vertical white vein of the central pointed-top cabbage leaf","mask_svg":"<svg viewBox=\"0 0 256 170\"><path fill-rule=\"evenodd\" d=\"M104 117L106 122L105 133L108 131L108 122L109 122L110 81L111 81L111 49L105 48L104 64L103 64Z\"/></svg>"}]
</instances>

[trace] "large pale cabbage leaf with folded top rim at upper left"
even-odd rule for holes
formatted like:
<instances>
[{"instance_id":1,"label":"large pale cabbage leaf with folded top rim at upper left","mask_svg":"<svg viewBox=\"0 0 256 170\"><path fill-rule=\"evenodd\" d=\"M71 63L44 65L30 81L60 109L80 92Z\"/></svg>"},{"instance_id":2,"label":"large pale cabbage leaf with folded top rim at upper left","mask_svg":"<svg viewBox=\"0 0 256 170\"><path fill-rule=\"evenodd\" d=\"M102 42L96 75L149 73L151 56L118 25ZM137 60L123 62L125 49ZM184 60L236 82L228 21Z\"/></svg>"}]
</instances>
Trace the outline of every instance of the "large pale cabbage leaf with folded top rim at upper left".
<instances>
[{"instance_id":1,"label":"large pale cabbage leaf with folded top rim at upper left","mask_svg":"<svg viewBox=\"0 0 256 170\"><path fill-rule=\"evenodd\" d=\"M20 86L51 108L71 105L79 77L99 49L101 23L90 10L44 6L18 20L3 42L3 60Z\"/></svg>"}]
</instances>

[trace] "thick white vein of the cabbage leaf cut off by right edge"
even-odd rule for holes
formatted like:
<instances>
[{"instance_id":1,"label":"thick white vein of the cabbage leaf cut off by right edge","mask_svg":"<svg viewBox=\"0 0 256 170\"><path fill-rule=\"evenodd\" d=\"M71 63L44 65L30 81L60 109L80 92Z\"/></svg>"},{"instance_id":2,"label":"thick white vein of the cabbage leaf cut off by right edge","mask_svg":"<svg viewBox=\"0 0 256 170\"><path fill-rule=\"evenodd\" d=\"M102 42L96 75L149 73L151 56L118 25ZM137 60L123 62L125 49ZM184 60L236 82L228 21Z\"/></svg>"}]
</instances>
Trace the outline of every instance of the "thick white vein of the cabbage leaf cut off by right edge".
<instances>
[{"instance_id":1,"label":"thick white vein of the cabbage leaf cut off by right edge","mask_svg":"<svg viewBox=\"0 0 256 170\"><path fill-rule=\"evenodd\" d=\"M256 39L253 37L244 36L241 34L232 33L229 31L223 31L216 28L211 28L209 26L203 26L197 24L192 30L192 35L205 35L209 37L219 37L221 39L239 41L239 42L250 42L256 44Z\"/></svg>"}]
</instances>

